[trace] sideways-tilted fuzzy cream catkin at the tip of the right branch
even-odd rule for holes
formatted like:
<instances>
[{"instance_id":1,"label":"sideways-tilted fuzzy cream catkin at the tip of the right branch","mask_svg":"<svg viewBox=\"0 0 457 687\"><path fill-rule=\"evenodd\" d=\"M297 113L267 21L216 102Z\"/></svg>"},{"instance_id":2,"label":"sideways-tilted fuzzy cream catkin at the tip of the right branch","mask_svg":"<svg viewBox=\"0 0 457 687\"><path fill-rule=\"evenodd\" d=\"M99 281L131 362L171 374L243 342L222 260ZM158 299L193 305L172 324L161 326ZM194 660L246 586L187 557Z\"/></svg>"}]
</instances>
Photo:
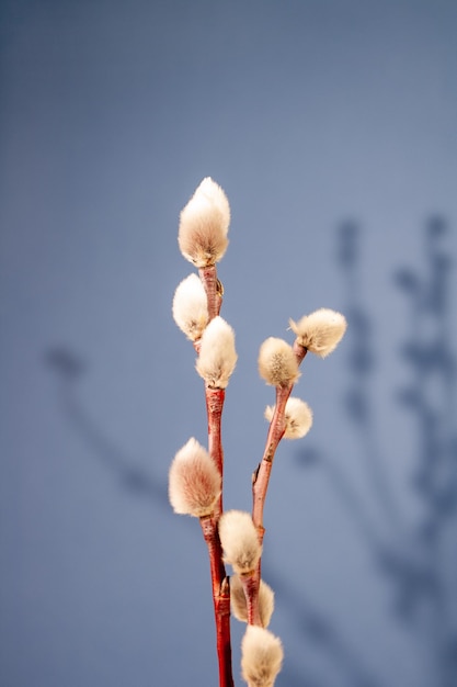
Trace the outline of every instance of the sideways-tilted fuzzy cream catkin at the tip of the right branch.
<instances>
[{"instance_id":1,"label":"sideways-tilted fuzzy cream catkin at the tip of the right branch","mask_svg":"<svg viewBox=\"0 0 457 687\"><path fill-rule=\"evenodd\" d=\"M336 348L347 327L344 315L327 307L305 315L298 322L289 319L289 325L298 344L321 358Z\"/></svg>"}]
</instances>

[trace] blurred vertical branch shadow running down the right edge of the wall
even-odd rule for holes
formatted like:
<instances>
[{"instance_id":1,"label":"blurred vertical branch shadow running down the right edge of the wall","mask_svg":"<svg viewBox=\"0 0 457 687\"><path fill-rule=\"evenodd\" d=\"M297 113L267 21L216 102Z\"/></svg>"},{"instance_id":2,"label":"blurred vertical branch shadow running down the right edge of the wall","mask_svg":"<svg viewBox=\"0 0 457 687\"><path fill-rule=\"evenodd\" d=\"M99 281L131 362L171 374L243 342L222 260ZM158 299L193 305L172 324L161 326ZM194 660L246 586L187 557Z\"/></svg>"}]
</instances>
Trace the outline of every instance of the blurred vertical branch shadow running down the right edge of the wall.
<instances>
[{"instance_id":1,"label":"blurred vertical branch shadow running down the right edge of the wall","mask_svg":"<svg viewBox=\"0 0 457 687\"><path fill-rule=\"evenodd\" d=\"M436 684L446 687L457 685L457 630L446 585L445 544L457 505L456 359L450 347L449 281L454 261L445 246L448 233L444 217L430 217L424 229L423 266L418 270L403 267L395 274L410 308L411 334L400 348L410 381L397 391L397 397L412 414L418 437L411 485L422 509L412 538L422 550L429 573L422 585L412 586L408 594L404 589L403 616L418 622L419 610L427 607Z\"/></svg>"}]
</instances>

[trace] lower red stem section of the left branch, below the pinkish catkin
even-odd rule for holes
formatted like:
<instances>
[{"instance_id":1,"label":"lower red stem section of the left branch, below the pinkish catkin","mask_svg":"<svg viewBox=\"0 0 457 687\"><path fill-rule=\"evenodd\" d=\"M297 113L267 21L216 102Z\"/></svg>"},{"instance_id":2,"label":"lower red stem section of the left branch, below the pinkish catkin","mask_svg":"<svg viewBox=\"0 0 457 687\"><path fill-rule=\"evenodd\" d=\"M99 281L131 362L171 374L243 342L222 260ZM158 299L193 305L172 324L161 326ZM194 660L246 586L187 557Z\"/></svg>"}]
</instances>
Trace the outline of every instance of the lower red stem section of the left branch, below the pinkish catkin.
<instances>
[{"instance_id":1,"label":"lower red stem section of the left branch, below the pinkish catkin","mask_svg":"<svg viewBox=\"0 0 457 687\"><path fill-rule=\"evenodd\" d=\"M201 518L212 573L213 602L216 621L216 647L219 663L219 687L233 687L230 640L230 587L222 563L222 550L217 529L218 518Z\"/></svg>"}]
</instances>

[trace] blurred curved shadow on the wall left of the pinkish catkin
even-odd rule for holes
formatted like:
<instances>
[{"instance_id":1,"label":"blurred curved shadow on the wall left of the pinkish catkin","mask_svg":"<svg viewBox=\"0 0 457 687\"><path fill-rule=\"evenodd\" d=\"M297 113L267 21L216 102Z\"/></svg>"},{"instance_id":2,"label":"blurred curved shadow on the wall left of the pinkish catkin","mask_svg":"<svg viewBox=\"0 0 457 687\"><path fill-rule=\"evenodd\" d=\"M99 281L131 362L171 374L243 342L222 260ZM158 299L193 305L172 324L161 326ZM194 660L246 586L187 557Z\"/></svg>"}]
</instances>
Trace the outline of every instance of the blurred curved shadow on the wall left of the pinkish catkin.
<instances>
[{"instance_id":1,"label":"blurred curved shadow on the wall left of the pinkish catkin","mask_svg":"<svg viewBox=\"0 0 457 687\"><path fill-rule=\"evenodd\" d=\"M60 346L45 352L45 363L57 375L58 394L65 415L99 461L124 489L169 509L167 485L125 455L90 418L79 402L77 384L87 372L84 361L69 348Z\"/></svg>"}]
</instances>

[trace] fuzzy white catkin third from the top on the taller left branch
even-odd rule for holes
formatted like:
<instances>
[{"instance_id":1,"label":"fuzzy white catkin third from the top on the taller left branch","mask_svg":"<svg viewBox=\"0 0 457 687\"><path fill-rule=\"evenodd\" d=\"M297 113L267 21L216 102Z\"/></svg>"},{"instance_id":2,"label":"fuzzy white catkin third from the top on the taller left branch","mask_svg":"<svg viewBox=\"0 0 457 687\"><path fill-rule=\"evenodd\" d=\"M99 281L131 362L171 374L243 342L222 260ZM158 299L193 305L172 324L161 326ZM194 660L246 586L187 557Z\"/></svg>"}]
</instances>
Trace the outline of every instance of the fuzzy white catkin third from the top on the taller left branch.
<instances>
[{"instance_id":1,"label":"fuzzy white catkin third from the top on the taller left branch","mask_svg":"<svg viewBox=\"0 0 457 687\"><path fill-rule=\"evenodd\" d=\"M218 315L203 333L196 370L212 388L225 388L237 358L233 329Z\"/></svg>"}]
</instances>

